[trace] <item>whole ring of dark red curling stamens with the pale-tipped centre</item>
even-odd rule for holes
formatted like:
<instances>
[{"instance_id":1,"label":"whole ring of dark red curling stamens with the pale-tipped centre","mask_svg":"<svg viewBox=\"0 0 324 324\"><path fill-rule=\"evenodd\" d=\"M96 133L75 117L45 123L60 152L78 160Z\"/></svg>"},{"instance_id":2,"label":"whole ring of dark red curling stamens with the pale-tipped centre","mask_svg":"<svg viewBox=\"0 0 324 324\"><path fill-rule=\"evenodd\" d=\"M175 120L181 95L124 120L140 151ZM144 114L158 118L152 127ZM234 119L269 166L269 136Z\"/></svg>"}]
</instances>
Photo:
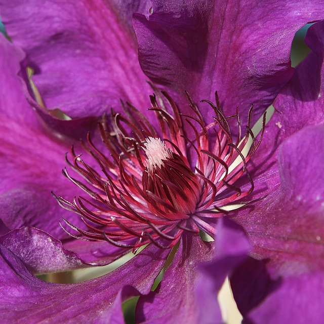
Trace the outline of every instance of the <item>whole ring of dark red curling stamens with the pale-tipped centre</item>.
<instances>
[{"instance_id":1,"label":"whole ring of dark red curling stamens with the pale-tipped centre","mask_svg":"<svg viewBox=\"0 0 324 324\"><path fill-rule=\"evenodd\" d=\"M86 163L71 148L73 160L68 165L86 181L63 174L90 198L82 196L68 201L56 196L65 209L77 213L85 224L76 227L64 222L76 238L90 241L106 240L117 247L132 248L135 253L143 245L169 249L176 245L184 231L199 234L203 230L215 234L215 220L254 188L246 168L259 146L251 131L251 112L247 133L241 139L241 127L236 114L225 118L218 97L216 104L204 100L214 111L212 122L205 124L198 107L187 95L192 114L179 112L173 99L162 93L151 96L149 109L157 120L155 130L149 120L135 107L124 106L126 117L111 112L99 123L106 152L99 150L88 134L82 142L85 152L95 163ZM238 135L232 140L229 118L236 118ZM184 132L192 130L189 139ZM190 132L187 132L187 134ZM251 144L249 144L251 142ZM243 150L247 150L243 153ZM246 174L250 187L241 191L235 183Z\"/></svg>"}]
</instances>

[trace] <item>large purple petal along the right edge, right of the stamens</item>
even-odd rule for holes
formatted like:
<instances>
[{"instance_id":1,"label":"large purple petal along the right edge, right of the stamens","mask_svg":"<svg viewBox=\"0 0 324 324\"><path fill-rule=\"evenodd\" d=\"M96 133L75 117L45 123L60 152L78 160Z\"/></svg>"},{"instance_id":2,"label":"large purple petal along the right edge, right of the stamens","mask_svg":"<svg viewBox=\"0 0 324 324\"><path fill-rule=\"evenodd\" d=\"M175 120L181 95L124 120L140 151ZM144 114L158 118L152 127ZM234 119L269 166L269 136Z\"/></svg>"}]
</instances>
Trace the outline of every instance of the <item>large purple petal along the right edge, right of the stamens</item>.
<instances>
[{"instance_id":1,"label":"large purple petal along the right edge, right of the stamens","mask_svg":"<svg viewBox=\"0 0 324 324\"><path fill-rule=\"evenodd\" d=\"M324 137L323 127L314 125L323 124L324 80L321 71L311 76L313 66L322 66L322 39L320 22L309 29L306 42L312 52L274 102L277 110L254 156L262 172L258 170L253 180L263 188L259 197L264 196L233 218L247 231L258 258L270 257L282 274L322 264Z\"/></svg>"}]
</instances>

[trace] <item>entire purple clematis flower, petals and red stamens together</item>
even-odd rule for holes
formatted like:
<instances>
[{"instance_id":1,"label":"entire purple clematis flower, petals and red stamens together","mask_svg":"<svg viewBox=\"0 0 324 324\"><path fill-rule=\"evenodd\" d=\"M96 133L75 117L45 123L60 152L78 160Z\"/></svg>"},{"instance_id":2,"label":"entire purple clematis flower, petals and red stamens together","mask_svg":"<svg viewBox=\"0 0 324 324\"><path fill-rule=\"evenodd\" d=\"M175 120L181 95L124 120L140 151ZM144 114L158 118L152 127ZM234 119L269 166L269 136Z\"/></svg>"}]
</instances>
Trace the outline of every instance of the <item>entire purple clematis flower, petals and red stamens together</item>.
<instances>
[{"instance_id":1,"label":"entire purple clematis flower, petals and red stamens together","mask_svg":"<svg viewBox=\"0 0 324 324\"><path fill-rule=\"evenodd\" d=\"M319 321L319 304L308 300L310 284L318 300L322 288L322 187L314 185L323 175L322 23L309 30L312 54L294 75L289 54L296 30L323 18L321 3L5 1L0 9L13 39L1 38L0 280L7 322L123 322L121 302L131 296L141 296L138 322L208 322L209 313L217 322L216 300L199 302L201 294L215 297L228 274L247 320ZM165 99L157 92L146 102L147 77L167 90ZM251 126L275 97L277 110L258 146ZM119 98L132 103L126 117ZM196 105L200 99L208 102ZM102 145L95 117L111 106L99 127ZM153 111L144 117L148 107ZM70 120L55 117L60 111ZM240 132L229 132L232 115L253 139L247 155ZM88 130L93 134L71 152L72 168L88 183L66 171L71 181L59 178L64 153ZM232 222L217 221L237 198L252 203L228 214ZM66 234L61 217L95 241ZM201 240L198 228L214 234L216 223L215 244ZM30 272L106 264L147 243L130 262L81 284L51 284ZM150 292L176 244L172 264ZM203 261L206 268L197 268ZM302 298L282 302L299 290ZM292 314L295 306L304 308Z\"/></svg>"}]
</instances>

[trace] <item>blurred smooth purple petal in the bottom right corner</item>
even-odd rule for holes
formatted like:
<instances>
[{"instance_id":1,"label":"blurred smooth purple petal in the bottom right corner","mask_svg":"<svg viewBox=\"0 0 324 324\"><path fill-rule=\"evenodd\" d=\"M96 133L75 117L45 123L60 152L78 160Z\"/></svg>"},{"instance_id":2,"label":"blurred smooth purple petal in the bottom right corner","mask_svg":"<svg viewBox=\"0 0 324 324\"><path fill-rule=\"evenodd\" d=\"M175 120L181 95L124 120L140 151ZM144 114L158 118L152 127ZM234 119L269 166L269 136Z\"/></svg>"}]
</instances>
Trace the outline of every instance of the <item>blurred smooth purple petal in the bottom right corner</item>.
<instances>
[{"instance_id":1,"label":"blurred smooth purple petal in the bottom right corner","mask_svg":"<svg viewBox=\"0 0 324 324\"><path fill-rule=\"evenodd\" d=\"M323 291L323 272L287 277L260 306L248 315L247 322L320 324L324 316Z\"/></svg>"}]
</instances>

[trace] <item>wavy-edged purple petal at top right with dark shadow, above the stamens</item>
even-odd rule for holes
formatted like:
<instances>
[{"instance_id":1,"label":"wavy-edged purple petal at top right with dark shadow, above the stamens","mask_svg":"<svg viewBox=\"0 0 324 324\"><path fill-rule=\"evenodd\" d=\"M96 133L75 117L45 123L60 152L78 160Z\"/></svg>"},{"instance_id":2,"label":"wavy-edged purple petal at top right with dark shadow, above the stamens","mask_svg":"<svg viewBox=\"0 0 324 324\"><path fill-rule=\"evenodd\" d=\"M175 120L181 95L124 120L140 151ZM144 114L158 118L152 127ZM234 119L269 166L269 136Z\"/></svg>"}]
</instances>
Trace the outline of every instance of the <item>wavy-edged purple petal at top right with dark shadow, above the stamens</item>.
<instances>
[{"instance_id":1,"label":"wavy-edged purple petal at top right with dark shadow, above the stamens","mask_svg":"<svg viewBox=\"0 0 324 324\"><path fill-rule=\"evenodd\" d=\"M136 14L141 66L155 83L194 100L214 99L226 114L252 103L264 111L293 74L295 32L322 19L313 1L160 1L149 16ZM204 115L207 115L207 108Z\"/></svg>"}]
</instances>

